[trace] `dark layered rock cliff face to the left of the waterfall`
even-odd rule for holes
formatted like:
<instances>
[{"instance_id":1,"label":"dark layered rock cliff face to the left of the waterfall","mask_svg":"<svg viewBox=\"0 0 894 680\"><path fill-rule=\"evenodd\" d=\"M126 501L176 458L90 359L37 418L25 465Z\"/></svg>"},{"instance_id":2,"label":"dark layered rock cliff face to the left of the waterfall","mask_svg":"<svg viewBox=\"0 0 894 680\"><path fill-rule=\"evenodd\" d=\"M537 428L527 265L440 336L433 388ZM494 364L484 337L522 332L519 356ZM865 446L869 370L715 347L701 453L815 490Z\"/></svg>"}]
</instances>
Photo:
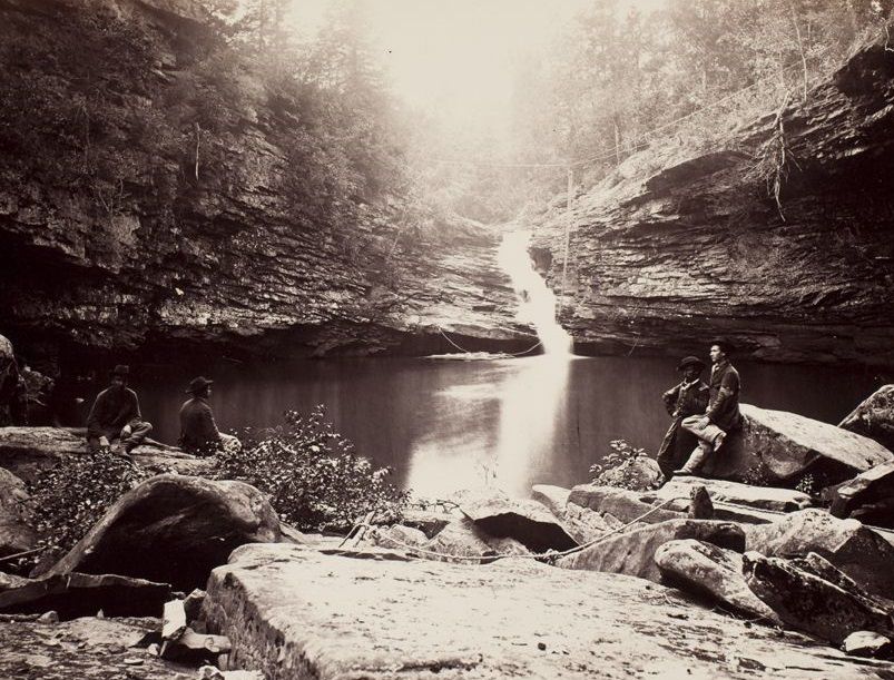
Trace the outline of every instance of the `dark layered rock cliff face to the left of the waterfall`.
<instances>
[{"instance_id":1,"label":"dark layered rock cliff face to the left of the waterfall","mask_svg":"<svg viewBox=\"0 0 894 680\"><path fill-rule=\"evenodd\" d=\"M85 8L118 22L100 27L102 40L128 29L104 63L139 48L132 76L100 66L101 83L88 90L94 75L72 75ZM439 326L473 349L530 345L492 235L443 225L441 236L409 242L389 206L364 208L350 242L295 219L283 179L288 116L272 111L244 73L238 110L218 102L230 122L216 136L190 127L179 131L184 144L167 146L153 136L151 116L135 112L181 106L188 92L177 90L196 82L189 53L205 19L200 6L168 0L0 2L0 42L22 46L2 52L0 68L18 78L10 91L41 111L58 105L72 135L85 130L76 152L58 121L35 114L16 130L26 142L0 154L0 332L48 357L209 346L237 356L449 351ZM29 56L29 42L41 41L71 47L52 59ZM99 90L101 120L88 115ZM95 177L17 162L57 148L60 158L69 149L68 166L81 156L92 162L100 140L117 150L95 164ZM166 201L170 181L179 194Z\"/></svg>"}]
</instances>

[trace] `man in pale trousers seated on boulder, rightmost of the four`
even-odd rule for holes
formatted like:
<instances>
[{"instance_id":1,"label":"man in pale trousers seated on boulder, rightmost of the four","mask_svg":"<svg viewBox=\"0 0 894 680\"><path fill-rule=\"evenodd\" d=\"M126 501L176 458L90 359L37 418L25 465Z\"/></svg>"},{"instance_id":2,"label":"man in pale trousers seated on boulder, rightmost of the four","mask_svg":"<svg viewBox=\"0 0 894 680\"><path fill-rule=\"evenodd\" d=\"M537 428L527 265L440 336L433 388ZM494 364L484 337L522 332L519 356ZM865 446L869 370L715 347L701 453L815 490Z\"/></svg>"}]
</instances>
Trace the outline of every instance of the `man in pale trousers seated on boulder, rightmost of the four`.
<instances>
[{"instance_id":1,"label":"man in pale trousers seated on boulder, rightmost of the four","mask_svg":"<svg viewBox=\"0 0 894 680\"><path fill-rule=\"evenodd\" d=\"M729 344L718 342L710 348L711 375L708 408L704 415L684 418L681 425L698 437L698 446L686 464L674 474L695 474L705 460L724 445L728 432L741 422L739 413L739 372L729 363Z\"/></svg>"}]
</instances>

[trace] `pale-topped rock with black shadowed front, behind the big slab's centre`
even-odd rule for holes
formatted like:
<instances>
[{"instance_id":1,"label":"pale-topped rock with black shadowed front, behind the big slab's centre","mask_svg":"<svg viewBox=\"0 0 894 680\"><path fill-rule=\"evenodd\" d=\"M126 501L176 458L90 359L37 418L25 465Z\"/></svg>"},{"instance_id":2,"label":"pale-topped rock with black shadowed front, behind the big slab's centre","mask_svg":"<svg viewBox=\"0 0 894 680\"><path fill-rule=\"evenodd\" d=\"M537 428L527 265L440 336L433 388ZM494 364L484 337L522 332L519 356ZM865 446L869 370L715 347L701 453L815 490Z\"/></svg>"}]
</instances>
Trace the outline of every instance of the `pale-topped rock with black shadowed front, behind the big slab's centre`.
<instances>
[{"instance_id":1,"label":"pale-topped rock with black shadowed front, behind the big slab's centre","mask_svg":"<svg viewBox=\"0 0 894 680\"><path fill-rule=\"evenodd\" d=\"M537 501L493 496L460 504L460 511L485 534L514 539L533 552L578 545L556 516Z\"/></svg>"}]
</instances>

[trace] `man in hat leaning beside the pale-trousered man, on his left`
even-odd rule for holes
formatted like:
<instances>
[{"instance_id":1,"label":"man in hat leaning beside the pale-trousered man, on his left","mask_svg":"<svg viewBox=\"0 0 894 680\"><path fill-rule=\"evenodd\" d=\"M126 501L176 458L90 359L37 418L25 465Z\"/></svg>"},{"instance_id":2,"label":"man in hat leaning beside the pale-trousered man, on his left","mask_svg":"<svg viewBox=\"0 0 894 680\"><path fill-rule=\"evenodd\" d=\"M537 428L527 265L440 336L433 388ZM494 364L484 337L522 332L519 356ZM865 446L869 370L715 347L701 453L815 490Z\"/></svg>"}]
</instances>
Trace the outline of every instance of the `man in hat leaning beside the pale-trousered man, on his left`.
<instances>
[{"instance_id":1,"label":"man in hat leaning beside the pale-trousered man, on his left","mask_svg":"<svg viewBox=\"0 0 894 680\"><path fill-rule=\"evenodd\" d=\"M674 476L674 471L686 462L692 447L698 443L695 435L684 430L680 424L690 415L705 413L705 407L708 405L708 386L701 380L704 369L705 362L700 358L685 357L677 366L682 382L661 395L667 412L674 418L658 449L658 466L665 480Z\"/></svg>"}]
</instances>

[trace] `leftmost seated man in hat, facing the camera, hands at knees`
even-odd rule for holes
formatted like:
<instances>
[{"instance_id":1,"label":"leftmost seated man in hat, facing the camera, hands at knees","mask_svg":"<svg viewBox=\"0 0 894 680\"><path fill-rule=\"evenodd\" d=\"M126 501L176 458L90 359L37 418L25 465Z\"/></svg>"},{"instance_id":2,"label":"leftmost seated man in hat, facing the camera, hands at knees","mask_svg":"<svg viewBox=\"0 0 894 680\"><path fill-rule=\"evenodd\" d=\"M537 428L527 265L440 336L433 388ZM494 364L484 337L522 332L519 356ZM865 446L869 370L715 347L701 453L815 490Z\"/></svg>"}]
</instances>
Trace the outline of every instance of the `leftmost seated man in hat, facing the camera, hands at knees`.
<instances>
[{"instance_id":1,"label":"leftmost seated man in hat, facing the camera, hands at knees","mask_svg":"<svg viewBox=\"0 0 894 680\"><path fill-rule=\"evenodd\" d=\"M126 453L143 443L153 426L143 420L137 393L127 386L130 367L119 364L111 372L111 384L100 392L87 416L87 445L90 451L109 449L120 438Z\"/></svg>"}]
</instances>

